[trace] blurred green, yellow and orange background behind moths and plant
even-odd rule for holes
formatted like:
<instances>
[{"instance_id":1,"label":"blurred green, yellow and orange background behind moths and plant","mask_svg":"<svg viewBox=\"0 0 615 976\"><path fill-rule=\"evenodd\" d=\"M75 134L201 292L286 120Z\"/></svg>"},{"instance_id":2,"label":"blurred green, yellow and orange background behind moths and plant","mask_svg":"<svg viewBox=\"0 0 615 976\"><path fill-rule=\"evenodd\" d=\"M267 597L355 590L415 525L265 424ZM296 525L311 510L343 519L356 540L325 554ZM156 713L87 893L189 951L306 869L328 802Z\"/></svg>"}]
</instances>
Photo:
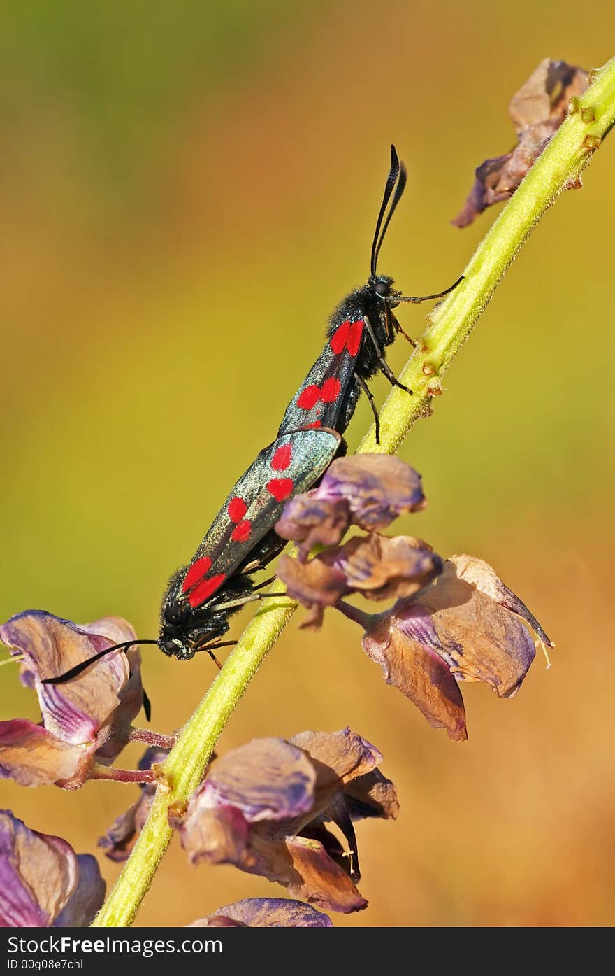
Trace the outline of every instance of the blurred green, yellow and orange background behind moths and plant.
<instances>
[{"instance_id":1,"label":"blurred green, yellow and orange background behind moths and plant","mask_svg":"<svg viewBox=\"0 0 615 976\"><path fill-rule=\"evenodd\" d=\"M613 28L610 0L5 12L2 619L120 614L155 636L167 577L272 439L331 307L365 280L390 142L409 186L380 268L410 294L437 291L493 220L448 223L474 168L512 145L513 93L545 57L606 61ZM315 635L297 618L219 743L350 724L384 752L402 812L360 826L369 908L335 924L615 919L614 160L611 137L524 247L402 452L430 505L400 530L491 562L555 639L553 669L538 657L513 701L466 686L470 740L455 745L384 684L358 629L331 614ZM410 334L423 315L402 311ZM406 353L391 350L396 370ZM368 421L363 403L351 447ZM211 662L143 657L152 725L171 731ZM17 671L0 673L2 717L36 716ZM30 827L92 852L135 797L116 784L1 789ZM190 869L173 844L138 922L273 894L231 868Z\"/></svg>"}]
</instances>

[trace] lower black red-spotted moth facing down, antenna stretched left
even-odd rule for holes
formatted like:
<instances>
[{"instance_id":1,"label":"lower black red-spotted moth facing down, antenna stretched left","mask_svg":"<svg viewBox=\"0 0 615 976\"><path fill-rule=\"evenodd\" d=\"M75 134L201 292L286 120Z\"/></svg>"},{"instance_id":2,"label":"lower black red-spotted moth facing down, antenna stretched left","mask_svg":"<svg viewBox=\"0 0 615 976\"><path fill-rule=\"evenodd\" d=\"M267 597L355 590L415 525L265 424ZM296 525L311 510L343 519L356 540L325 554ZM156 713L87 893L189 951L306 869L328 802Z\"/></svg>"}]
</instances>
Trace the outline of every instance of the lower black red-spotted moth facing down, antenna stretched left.
<instances>
[{"instance_id":1,"label":"lower black red-spotted moth facing down, antenna stretched left","mask_svg":"<svg viewBox=\"0 0 615 976\"><path fill-rule=\"evenodd\" d=\"M271 593L258 590L251 574L263 569L287 541L274 526L288 499L317 483L336 454L341 436L327 428L292 430L264 448L234 485L190 562L173 574L162 601L156 639L115 644L45 683L77 677L99 658L135 644L156 644L165 654L188 661L236 641L220 641L229 617L251 600Z\"/></svg>"}]
</instances>

